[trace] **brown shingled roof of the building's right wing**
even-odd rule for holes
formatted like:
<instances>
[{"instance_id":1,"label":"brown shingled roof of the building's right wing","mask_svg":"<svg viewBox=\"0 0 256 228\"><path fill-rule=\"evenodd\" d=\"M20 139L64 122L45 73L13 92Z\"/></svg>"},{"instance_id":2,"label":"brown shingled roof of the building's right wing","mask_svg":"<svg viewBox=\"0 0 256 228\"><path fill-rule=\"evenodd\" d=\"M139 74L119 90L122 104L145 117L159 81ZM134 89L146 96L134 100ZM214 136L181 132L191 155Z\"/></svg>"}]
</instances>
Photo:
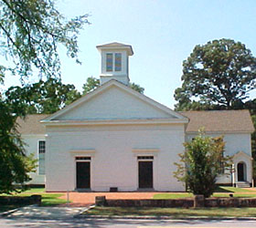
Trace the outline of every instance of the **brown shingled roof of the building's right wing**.
<instances>
[{"instance_id":1,"label":"brown shingled roof of the building's right wing","mask_svg":"<svg viewBox=\"0 0 256 228\"><path fill-rule=\"evenodd\" d=\"M249 110L183 111L189 119L186 132L204 128L208 132L253 132Z\"/></svg>"}]
</instances>

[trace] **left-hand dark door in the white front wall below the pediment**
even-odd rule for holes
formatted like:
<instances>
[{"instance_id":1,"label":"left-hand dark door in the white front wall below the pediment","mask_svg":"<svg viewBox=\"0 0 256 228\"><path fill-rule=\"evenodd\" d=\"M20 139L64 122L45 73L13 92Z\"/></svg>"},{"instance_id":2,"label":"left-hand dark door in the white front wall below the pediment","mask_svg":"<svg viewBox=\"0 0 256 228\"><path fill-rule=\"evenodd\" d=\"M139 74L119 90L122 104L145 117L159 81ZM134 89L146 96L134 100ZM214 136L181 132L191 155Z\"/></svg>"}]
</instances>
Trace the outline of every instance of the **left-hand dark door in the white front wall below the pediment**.
<instances>
[{"instance_id":1,"label":"left-hand dark door in the white front wall below the pediment","mask_svg":"<svg viewBox=\"0 0 256 228\"><path fill-rule=\"evenodd\" d=\"M77 189L90 189L90 162L77 161Z\"/></svg>"}]
</instances>

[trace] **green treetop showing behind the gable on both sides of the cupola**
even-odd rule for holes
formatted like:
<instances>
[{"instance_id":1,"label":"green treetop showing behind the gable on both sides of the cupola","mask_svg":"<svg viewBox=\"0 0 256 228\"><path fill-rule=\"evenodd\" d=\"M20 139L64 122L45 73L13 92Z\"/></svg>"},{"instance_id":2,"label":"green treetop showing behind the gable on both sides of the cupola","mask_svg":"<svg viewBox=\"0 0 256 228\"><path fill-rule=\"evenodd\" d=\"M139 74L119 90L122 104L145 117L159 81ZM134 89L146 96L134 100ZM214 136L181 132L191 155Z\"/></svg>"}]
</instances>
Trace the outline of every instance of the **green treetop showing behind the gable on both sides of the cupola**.
<instances>
[{"instance_id":1,"label":"green treetop showing behind the gable on both sides of the cupola","mask_svg":"<svg viewBox=\"0 0 256 228\"><path fill-rule=\"evenodd\" d=\"M93 91L95 88L98 88L101 86L100 79L98 78L87 78L86 83L83 84L83 94L88 94L89 92ZM129 83L129 87L133 88L135 91L139 93L144 93L144 88L140 87L139 85L135 83Z\"/></svg>"}]
</instances>

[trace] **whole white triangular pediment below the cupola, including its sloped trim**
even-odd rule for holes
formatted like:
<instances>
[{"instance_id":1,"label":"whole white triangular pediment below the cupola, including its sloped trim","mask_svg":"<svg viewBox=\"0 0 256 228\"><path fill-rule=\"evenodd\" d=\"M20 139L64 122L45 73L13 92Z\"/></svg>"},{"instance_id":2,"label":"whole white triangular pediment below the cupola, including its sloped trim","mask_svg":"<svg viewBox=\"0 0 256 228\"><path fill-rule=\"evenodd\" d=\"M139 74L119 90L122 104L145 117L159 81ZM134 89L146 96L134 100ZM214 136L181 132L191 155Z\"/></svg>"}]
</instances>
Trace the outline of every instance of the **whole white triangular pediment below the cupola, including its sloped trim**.
<instances>
[{"instance_id":1,"label":"whole white triangular pediment below the cupola, including its sloped trim","mask_svg":"<svg viewBox=\"0 0 256 228\"><path fill-rule=\"evenodd\" d=\"M185 119L151 98L111 80L43 121L104 119Z\"/></svg>"}]
</instances>

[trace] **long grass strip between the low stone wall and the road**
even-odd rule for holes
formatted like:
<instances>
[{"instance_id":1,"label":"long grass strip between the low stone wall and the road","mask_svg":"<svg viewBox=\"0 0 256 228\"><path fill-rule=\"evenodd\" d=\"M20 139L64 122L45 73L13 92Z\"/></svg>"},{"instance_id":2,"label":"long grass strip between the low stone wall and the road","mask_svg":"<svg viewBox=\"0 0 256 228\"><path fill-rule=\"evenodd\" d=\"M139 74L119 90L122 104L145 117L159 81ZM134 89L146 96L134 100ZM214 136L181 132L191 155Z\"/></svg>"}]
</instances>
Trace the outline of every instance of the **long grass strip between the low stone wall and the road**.
<instances>
[{"instance_id":1,"label":"long grass strip between the low stone wall and the road","mask_svg":"<svg viewBox=\"0 0 256 228\"><path fill-rule=\"evenodd\" d=\"M152 207L95 207L84 212L86 215L152 215L185 218L199 217L255 217L256 208L152 208Z\"/></svg>"}]
</instances>

